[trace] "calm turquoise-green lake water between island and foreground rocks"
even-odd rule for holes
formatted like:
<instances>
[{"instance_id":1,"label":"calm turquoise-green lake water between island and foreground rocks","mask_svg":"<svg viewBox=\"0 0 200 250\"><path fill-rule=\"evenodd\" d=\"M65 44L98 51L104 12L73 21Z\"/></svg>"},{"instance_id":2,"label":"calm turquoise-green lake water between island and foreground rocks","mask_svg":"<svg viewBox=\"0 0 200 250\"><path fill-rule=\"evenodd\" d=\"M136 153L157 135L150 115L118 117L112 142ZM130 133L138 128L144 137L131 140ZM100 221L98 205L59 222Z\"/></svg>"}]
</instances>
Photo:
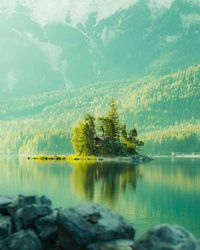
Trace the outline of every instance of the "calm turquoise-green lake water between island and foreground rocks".
<instances>
[{"instance_id":1,"label":"calm turquoise-green lake water between island and foreground rocks","mask_svg":"<svg viewBox=\"0 0 200 250\"><path fill-rule=\"evenodd\" d=\"M168 222L200 238L200 159L156 159L135 167L0 157L0 194L45 194L55 207L98 202L123 215L137 237Z\"/></svg>"}]
</instances>

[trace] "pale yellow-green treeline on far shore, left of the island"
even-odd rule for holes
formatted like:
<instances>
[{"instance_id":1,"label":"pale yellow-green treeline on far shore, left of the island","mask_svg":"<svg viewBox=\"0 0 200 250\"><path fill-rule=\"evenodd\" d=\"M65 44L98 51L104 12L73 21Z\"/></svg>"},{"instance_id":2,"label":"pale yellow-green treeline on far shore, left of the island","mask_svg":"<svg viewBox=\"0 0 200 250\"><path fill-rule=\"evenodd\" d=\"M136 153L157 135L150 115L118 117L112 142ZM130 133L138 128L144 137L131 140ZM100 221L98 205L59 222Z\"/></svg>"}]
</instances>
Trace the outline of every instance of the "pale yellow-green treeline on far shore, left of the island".
<instances>
[{"instance_id":1,"label":"pale yellow-green treeline on far shore, left of the island","mask_svg":"<svg viewBox=\"0 0 200 250\"><path fill-rule=\"evenodd\" d=\"M72 153L71 138L65 131L12 132L0 135L2 154Z\"/></svg>"}]
</instances>

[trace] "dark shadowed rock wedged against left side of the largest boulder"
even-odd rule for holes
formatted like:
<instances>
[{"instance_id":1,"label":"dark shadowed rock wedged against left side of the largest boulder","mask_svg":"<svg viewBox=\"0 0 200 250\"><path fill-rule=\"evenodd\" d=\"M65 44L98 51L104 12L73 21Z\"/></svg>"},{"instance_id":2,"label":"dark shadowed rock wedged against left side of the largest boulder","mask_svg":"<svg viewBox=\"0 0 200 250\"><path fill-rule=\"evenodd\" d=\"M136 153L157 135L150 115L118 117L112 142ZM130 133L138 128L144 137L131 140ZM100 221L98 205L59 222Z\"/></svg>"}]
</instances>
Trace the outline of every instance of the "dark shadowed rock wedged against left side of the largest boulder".
<instances>
[{"instance_id":1,"label":"dark shadowed rock wedged against left side of the largest boulder","mask_svg":"<svg viewBox=\"0 0 200 250\"><path fill-rule=\"evenodd\" d=\"M37 219L34 223L34 227L45 246L51 246L57 242L57 212Z\"/></svg>"}]
</instances>

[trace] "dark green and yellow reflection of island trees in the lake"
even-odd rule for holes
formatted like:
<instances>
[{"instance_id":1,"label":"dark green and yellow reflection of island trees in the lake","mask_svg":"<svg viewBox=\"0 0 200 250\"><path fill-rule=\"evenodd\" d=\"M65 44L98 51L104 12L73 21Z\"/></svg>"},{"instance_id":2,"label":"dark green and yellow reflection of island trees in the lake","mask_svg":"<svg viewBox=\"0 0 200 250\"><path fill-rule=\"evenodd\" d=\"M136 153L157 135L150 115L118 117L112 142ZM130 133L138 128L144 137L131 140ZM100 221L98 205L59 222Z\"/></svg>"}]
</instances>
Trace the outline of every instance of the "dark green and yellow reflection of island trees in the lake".
<instances>
[{"instance_id":1,"label":"dark green and yellow reflection of island trees in the lake","mask_svg":"<svg viewBox=\"0 0 200 250\"><path fill-rule=\"evenodd\" d=\"M72 193L82 200L104 200L114 208L118 196L128 187L136 189L137 179L142 177L141 170L128 163L77 162L71 174Z\"/></svg>"}]
</instances>

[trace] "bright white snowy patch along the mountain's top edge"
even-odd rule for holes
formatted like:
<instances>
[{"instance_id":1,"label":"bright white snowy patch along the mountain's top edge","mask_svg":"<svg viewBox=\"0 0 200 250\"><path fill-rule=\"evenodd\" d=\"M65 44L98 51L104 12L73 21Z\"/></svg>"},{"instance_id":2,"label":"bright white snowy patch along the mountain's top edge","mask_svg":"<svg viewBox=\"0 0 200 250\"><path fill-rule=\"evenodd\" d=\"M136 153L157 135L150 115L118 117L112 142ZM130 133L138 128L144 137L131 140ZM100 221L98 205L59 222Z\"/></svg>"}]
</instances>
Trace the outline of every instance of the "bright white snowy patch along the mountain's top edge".
<instances>
[{"instance_id":1,"label":"bright white snowy patch along the mountain's top edge","mask_svg":"<svg viewBox=\"0 0 200 250\"><path fill-rule=\"evenodd\" d=\"M31 17L44 26L49 23L65 22L69 17L73 25L84 24L91 13L97 14L97 21L115 12L136 4L139 0L0 0L1 9L14 11L17 3L30 9ZM1 7L0 5L0 7Z\"/></svg>"}]
</instances>

